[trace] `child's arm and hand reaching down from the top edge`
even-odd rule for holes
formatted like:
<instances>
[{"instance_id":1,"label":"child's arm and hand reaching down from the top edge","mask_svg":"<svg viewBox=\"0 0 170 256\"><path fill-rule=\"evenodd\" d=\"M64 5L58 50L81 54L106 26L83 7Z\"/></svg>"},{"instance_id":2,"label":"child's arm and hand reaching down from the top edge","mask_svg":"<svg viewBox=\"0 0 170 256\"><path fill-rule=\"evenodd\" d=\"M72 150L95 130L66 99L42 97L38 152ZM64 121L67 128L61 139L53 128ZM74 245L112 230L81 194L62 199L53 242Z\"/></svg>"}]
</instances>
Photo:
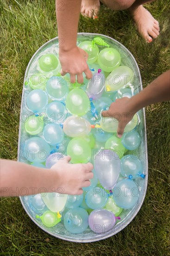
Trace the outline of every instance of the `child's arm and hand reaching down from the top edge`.
<instances>
[{"instance_id":1,"label":"child's arm and hand reaching down from the top edge","mask_svg":"<svg viewBox=\"0 0 170 256\"><path fill-rule=\"evenodd\" d=\"M59 59L61 74L70 74L72 83L83 82L82 72L90 79L92 73L88 68L88 54L76 46L77 27L80 15L81 0L56 0L56 15L59 37Z\"/></svg>"}]
</instances>

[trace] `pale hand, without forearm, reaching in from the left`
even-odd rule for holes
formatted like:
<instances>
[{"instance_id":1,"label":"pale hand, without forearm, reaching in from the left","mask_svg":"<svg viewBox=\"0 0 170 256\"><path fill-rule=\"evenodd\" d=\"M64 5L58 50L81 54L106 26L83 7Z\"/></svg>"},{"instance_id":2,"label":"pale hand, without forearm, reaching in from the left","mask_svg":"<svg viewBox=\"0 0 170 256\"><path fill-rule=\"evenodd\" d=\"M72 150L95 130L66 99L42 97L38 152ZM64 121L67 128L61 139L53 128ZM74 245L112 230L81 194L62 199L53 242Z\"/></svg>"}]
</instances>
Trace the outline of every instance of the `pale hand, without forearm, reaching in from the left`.
<instances>
[{"instance_id":1,"label":"pale hand, without forearm, reaching in from the left","mask_svg":"<svg viewBox=\"0 0 170 256\"><path fill-rule=\"evenodd\" d=\"M59 160L51 169L57 171L57 183L60 188L56 192L60 194L81 195L82 187L90 186L90 179L93 178L93 165L91 163L70 164L70 156ZM63 189L63 191L62 191Z\"/></svg>"}]
</instances>

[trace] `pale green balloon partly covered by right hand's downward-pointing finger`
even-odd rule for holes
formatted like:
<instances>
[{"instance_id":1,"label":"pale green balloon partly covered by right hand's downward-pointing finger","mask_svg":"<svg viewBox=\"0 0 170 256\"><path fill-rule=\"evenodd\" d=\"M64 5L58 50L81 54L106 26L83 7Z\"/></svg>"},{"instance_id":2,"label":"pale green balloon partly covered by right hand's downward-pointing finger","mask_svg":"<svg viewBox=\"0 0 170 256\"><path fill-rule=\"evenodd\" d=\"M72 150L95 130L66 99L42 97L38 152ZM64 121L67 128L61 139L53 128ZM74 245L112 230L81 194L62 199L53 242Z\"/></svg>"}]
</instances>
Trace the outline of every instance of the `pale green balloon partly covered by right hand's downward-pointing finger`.
<instances>
[{"instance_id":1,"label":"pale green balloon partly covered by right hand's downward-pointing finger","mask_svg":"<svg viewBox=\"0 0 170 256\"><path fill-rule=\"evenodd\" d=\"M126 124L125 132L132 131L138 124L139 118L135 114L130 122ZM102 117L100 121L101 129L108 133L116 133L118 129L118 120L113 117Z\"/></svg>"}]
</instances>

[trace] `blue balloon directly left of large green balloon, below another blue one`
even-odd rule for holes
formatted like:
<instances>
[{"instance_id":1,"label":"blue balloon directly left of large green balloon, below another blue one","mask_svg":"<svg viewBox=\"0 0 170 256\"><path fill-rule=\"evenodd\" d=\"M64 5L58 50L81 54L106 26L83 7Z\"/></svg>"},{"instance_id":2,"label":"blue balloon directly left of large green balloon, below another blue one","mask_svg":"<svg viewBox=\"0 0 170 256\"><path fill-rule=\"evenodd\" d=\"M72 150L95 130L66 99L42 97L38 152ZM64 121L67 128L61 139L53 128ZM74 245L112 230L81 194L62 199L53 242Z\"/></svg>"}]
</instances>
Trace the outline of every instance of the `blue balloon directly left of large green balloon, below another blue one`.
<instances>
[{"instance_id":1,"label":"blue balloon directly left of large green balloon, below another blue one","mask_svg":"<svg viewBox=\"0 0 170 256\"><path fill-rule=\"evenodd\" d=\"M60 101L52 101L47 105L46 114L50 121L62 123L67 117L67 110Z\"/></svg>"}]
</instances>

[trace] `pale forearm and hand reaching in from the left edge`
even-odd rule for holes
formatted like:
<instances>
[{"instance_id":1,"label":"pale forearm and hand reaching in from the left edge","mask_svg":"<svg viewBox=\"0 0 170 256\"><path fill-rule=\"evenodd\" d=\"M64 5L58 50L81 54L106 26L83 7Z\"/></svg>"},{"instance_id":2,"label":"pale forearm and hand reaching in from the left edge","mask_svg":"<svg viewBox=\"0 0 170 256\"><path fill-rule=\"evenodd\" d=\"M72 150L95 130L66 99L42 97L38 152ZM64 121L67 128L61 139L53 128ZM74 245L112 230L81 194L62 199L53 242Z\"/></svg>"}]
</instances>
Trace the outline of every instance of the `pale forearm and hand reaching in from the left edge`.
<instances>
[{"instance_id":1,"label":"pale forearm and hand reaching in from the left edge","mask_svg":"<svg viewBox=\"0 0 170 256\"><path fill-rule=\"evenodd\" d=\"M91 163L69 164L70 157L59 160L51 169L0 159L0 196L24 196L45 192L80 195L90 186ZM41 193L44 192L41 190Z\"/></svg>"}]
</instances>

